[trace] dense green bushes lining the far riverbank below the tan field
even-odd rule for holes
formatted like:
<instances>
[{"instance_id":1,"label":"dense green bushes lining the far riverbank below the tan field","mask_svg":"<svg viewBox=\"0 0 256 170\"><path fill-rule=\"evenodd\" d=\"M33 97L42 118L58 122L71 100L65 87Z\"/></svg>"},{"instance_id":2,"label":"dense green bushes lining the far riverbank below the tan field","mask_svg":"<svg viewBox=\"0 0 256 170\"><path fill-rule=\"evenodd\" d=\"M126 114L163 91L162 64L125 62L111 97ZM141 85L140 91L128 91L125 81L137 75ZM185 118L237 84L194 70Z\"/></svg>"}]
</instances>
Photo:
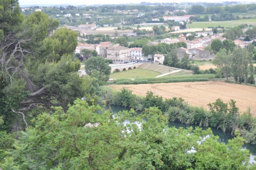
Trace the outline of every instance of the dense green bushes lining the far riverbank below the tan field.
<instances>
[{"instance_id":1,"label":"dense green bushes lining the far riverbank below the tan field","mask_svg":"<svg viewBox=\"0 0 256 170\"><path fill-rule=\"evenodd\" d=\"M162 96L155 96L151 91L148 91L145 97L141 97L125 88L115 91L102 87L99 96L100 100L109 104L130 107L137 111L157 107L171 121L217 127L232 134L238 130L247 142L256 144L256 118L250 113L250 108L239 114L239 108L236 107L236 101L233 99L230 99L229 103L216 99L215 102L208 104L209 111L207 111L204 108L188 105L182 98L163 100Z\"/></svg>"}]
</instances>

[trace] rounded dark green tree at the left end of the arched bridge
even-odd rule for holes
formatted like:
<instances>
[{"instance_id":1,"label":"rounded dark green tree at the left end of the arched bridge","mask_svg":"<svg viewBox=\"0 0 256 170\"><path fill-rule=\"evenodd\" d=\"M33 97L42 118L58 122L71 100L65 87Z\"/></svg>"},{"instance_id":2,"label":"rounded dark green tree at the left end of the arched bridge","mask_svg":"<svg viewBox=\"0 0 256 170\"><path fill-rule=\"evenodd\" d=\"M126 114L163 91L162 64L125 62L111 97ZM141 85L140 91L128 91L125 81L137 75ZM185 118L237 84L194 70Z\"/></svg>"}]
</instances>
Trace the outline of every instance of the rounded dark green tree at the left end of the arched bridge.
<instances>
[{"instance_id":1,"label":"rounded dark green tree at the left end of the arched bridge","mask_svg":"<svg viewBox=\"0 0 256 170\"><path fill-rule=\"evenodd\" d=\"M105 84L111 74L111 67L103 57L90 57L84 62L84 69L87 75L99 79L100 85Z\"/></svg>"}]
</instances>

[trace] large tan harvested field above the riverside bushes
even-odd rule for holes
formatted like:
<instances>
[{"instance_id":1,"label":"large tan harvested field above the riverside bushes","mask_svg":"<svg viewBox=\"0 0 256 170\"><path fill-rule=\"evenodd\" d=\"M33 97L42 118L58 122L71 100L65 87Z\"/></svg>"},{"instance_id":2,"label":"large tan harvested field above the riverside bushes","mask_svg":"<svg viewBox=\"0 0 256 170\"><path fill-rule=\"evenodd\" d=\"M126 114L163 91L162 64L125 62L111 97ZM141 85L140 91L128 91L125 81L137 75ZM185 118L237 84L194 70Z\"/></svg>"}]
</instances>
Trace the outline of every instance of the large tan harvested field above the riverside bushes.
<instances>
[{"instance_id":1,"label":"large tan harvested field above the riverside bushes","mask_svg":"<svg viewBox=\"0 0 256 170\"><path fill-rule=\"evenodd\" d=\"M250 107L251 112L256 116L256 88L250 86L209 81L111 85L111 87L116 90L125 87L133 91L133 94L141 96L145 96L147 91L152 91L155 95L163 96L164 99L182 97L190 105L202 106L205 109L209 109L207 104L215 102L218 98L226 103L233 99L239 111L244 112Z\"/></svg>"}]
</instances>

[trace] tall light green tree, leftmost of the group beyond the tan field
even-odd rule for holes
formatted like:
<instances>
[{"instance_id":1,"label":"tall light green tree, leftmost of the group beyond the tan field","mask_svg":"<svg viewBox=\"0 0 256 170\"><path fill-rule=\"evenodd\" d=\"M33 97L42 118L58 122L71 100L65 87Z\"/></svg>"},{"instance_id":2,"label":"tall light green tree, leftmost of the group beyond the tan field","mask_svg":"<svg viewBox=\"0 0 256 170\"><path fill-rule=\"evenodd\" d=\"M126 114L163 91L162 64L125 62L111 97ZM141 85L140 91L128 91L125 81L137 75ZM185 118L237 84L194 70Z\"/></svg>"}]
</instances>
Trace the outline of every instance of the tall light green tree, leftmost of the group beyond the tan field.
<instances>
[{"instance_id":1,"label":"tall light green tree, leftmost of the group beyond the tan field","mask_svg":"<svg viewBox=\"0 0 256 170\"><path fill-rule=\"evenodd\" d=\"M231 65L232 65L232 55L227 53L226 49L221 49L216 57L212 60L212 63L221 70L221 73L224 74L228 81L228 77L231 74Z\"/></svg>"}]
</instances>

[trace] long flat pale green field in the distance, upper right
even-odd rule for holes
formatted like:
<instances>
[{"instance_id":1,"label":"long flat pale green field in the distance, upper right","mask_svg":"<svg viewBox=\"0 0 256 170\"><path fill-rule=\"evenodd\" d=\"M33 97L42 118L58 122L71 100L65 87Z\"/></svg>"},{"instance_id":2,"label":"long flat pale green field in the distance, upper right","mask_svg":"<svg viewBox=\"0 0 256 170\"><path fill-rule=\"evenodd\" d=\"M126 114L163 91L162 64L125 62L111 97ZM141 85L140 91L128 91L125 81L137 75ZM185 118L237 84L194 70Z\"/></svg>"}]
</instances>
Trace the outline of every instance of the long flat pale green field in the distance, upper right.
<instances>
[{"instance_id":1,"label":"long flat pale green field in the distance, upper right","mask_svg":"<svg viewBox=\"0 0 256 170\"><path fill-rule=\"evenodd\" d=\"M236 27L241 24L256 24L256 19L247 19L247 20L233 20L233 21L209 21L209 22L193 22L192 24L187 25L190 28L208 28L208 27Z\"/></svg>"}]
</instances>

